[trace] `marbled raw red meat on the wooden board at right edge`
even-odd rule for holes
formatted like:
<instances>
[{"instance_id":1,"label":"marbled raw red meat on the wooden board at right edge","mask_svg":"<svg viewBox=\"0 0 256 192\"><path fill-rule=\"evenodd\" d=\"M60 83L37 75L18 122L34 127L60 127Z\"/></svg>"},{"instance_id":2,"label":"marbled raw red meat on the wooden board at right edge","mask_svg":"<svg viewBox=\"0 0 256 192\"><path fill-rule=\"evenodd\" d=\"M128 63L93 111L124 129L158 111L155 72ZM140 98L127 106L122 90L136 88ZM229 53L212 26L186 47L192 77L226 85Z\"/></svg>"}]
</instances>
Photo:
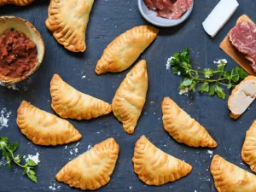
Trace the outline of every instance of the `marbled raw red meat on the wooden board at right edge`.
<instances>
[{"instance_id":1,"label":"marbled raw red meat on the wooden board at right edge","mask_svg":"<svg viewBox=\"0 0 256 192\"><path fill-rule=\"evenodd\" d=\"M247 60L252 61L252 67L256 71L256 25L243 20L230 30L229 38L231 44L245 54Z\"/></svg>"}]
</instances>

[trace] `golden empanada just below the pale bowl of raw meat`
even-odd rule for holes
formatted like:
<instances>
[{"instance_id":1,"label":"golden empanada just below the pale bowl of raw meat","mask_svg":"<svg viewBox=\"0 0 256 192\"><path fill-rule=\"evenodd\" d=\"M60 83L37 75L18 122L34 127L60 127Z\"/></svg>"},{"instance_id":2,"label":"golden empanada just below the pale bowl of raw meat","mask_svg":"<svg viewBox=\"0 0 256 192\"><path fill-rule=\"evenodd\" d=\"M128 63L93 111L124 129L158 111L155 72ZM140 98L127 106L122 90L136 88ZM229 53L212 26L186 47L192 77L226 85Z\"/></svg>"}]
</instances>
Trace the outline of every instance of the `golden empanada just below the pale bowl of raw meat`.
<instances>
[{"instance_id":1,"label":"golden empanada just below the pale bowl of raw meat","mask_svg":"<svg viewBox=\"0 0 256 192\"><path fill-rule=\"evenodd\" d=\"M96 73L117 73L131 67L139 55L157 37L159 30L153 26L135 26L115 38L97 62Z\"/></svg>"}]
</instances>

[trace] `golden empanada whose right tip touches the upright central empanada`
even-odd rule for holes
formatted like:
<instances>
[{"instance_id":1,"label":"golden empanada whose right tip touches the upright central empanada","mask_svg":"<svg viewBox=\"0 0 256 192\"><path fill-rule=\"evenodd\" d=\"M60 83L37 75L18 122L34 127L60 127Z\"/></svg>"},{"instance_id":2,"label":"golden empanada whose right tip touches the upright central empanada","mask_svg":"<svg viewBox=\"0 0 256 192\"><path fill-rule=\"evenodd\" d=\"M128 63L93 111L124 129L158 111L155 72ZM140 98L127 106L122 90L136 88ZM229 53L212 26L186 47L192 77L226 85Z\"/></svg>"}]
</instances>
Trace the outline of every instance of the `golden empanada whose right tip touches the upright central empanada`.
<instances>
[{"instance_id":1,"label":"golden empanada whose right tip touches the upright central empanada","mask_svg":"<svg viewBox=\"0 0 256 192\"><path fill-rule=\"evenodd\" d=\"M112 111L111 105L95 97L88 96L75 90L65 83L58 74L50 81L51 108L61 118L91 119Z\"/></svg>"}]
</instances>

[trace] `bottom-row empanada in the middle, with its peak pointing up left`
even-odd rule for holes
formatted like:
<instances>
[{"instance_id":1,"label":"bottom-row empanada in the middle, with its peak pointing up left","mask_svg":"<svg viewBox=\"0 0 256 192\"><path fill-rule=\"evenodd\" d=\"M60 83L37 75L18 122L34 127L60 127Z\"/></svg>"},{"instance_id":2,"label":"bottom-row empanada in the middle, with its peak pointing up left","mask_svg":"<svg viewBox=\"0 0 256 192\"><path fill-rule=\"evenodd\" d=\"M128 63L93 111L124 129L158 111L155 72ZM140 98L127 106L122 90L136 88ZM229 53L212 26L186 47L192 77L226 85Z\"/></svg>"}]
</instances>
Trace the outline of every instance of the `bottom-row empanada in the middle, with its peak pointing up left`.
<instances>
[{"instance_id":1,"label":"bottom-row empanada in the middle, with its peak pointing up left","mask_svg":"<svg viewBox=\"0 0 256 192\"><path fill-rule=\"evenodd\" d=\"M134 148L132 158L134 172L148 185L162 185L185 177L192 166L156 148L148 139L141 137Z\"/></svg>"}]
</instances>

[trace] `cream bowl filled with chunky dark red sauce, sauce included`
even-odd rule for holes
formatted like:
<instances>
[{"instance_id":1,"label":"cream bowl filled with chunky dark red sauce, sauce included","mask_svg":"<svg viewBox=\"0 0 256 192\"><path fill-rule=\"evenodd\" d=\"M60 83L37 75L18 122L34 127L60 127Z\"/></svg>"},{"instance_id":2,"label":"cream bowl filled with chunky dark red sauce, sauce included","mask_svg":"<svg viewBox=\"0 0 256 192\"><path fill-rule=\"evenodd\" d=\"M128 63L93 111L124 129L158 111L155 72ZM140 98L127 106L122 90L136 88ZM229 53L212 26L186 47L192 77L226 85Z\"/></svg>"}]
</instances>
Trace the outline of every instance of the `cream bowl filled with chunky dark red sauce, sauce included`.
<instances>
[{"instance_id":1,"label":"cream bowl filled with chunky dark red sauce, sauce included","mask_svg":"<svg viewBox=\"0 0 256 192\"><path fill-rule=\"evenodd\" d=\"M30 77L44 59L44 40L35 26L15 16L0 17L0 82Z\"/></svg>"}]
</instances>

